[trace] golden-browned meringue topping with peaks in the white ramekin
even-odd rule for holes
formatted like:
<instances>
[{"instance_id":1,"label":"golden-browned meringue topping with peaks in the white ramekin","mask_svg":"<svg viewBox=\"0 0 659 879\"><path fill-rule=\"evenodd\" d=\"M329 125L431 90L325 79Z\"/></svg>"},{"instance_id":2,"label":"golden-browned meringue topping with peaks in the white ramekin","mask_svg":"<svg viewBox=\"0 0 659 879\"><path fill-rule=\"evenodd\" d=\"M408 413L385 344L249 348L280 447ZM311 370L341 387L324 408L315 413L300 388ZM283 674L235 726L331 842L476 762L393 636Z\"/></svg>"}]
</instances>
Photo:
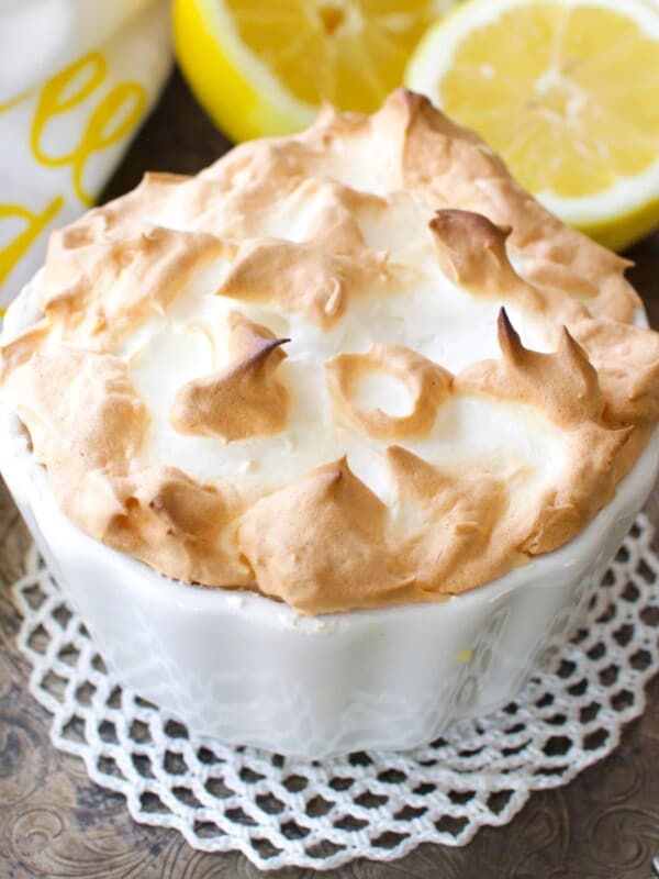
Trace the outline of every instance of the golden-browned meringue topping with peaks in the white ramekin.
<instances>
[{"instance_id":1,"label":"golden-browned meringue topping with peaks in the white ramekin","mask_svg":"<svg viewBox=\"0 0 659 879\"><path fill-rule=\"evenodd\" d=\"M571 539L643 449L627 265L399 90L55 233L0 378L64 512L163 574L434 601Z\"/></svg>"}]
</instances>

